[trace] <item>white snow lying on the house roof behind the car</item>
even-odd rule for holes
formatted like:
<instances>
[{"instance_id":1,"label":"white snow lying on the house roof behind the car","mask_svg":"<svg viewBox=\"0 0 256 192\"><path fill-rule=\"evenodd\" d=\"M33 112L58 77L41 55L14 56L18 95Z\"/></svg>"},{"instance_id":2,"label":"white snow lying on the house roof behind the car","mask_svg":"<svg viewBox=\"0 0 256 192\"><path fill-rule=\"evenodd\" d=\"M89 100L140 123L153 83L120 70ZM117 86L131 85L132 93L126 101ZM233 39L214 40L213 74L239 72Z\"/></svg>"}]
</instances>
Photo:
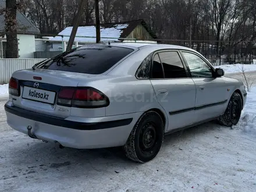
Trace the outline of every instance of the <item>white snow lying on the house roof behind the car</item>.
<instances>
[{"instance_id":1,"label":"white snow lying on the house roof behind the car","mask_svg":"<svg viewBox=\"0 0 256 192\"><path fill-rule=\"evenodd\" d=\"M101 41L119 41L120 35L123 33L123 29L126 29L129 24L115 24L113 27L101 27ZM58 35L70 36L73 27L66 27ZM84 26L78 27L76 37L74 41L78 42L95 42L96 40L96 27ZM105 38L104 38L105 37ZM49 41L62 41L62 37L48 37ZM69 37L63 37L63 41L69 41Z\"/></svg>"}]
</instances>

